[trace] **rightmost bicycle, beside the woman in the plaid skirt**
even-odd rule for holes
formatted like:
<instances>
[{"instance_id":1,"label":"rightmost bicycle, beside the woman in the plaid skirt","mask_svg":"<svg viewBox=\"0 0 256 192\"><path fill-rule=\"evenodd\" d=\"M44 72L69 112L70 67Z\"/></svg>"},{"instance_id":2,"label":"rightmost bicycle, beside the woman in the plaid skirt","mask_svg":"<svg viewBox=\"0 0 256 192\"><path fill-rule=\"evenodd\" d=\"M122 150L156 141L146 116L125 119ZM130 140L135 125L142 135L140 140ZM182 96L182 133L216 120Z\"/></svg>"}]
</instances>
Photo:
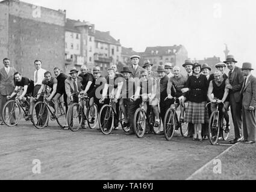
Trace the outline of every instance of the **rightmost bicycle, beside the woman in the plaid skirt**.
<instances>
[{"instance_id":1,"label":"rightmost bicycle, beside the woman in the plaid skirt","mask_svg":"<svg viewBox=\"0 0 256 192\"><path fill-rule=\"evenodd\" d=\"M211 104L213 102L207 103ZM224 103L221 102L223 105ZM220 103L214 103L216 104L216 110L214 110L213 113L211 113L209 126L208 126L208 133L209 133L209 140L211 145L216 145L220 134L223 140L228 139L229 136L229 130L226 129L226 120L222 114L222 112L219 111Z\"/></svg>"}]
</instances>

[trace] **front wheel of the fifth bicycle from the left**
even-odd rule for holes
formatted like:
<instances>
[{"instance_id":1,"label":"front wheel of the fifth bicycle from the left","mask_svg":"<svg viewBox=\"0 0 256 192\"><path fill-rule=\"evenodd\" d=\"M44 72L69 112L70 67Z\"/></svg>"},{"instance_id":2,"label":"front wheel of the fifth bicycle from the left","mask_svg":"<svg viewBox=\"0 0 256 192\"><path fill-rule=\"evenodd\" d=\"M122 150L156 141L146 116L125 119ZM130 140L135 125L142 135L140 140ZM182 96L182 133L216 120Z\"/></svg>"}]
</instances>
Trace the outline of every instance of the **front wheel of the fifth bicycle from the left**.
<instances>
[{"instance_id":1,"label":"front wheel of the fifth bicycle from the left","mask_svg":"<svg viewBox=\"0 0 256 192\"><path fill-rule=\"evenodd\" d=\"M146 131L146 118L143 109L137 109L134 114L134 133L142 138Z\"/></svg>"}]
</instances>

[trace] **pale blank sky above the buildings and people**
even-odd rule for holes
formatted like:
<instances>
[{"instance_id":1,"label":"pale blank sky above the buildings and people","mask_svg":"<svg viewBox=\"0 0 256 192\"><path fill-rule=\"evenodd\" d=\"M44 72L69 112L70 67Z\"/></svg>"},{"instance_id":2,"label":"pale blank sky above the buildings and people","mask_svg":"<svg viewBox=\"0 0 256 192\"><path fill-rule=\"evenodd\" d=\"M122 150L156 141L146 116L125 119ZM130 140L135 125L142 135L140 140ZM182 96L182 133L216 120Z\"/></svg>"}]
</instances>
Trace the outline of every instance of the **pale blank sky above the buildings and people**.
<instances>
[{"instance_id":1,"label":"pale blank sky above the buildings and people","mask_svg":"<svg viewBox=\"0 0 256 192\"><path fill-rule=\"evenodd\" d=\"M219 56L225 43L239 61L256 68L255 0L21 0L86 20L110 31L124 47L144 52L150 46L182 44L191 59Z\"/></svg>"}]
</instances>

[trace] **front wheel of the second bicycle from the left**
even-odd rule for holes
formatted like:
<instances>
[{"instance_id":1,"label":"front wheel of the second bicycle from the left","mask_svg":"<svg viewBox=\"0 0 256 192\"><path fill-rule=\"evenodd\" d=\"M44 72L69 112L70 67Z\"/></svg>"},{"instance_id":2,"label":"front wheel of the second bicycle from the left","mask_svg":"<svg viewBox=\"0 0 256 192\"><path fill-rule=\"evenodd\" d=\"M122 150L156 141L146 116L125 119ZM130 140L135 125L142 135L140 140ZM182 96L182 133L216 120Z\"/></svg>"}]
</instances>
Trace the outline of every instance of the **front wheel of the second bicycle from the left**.
<instances>
[{"instance_id":1,"label":"front wheel of the second bicycle from the left","mask_svg":"<svg viewBox=\"0 0 256 192\"><path fill-rule=\"evenodd\" d=\"M45 103L40 101L35 104L32 111L32 119L36 128L45 128L49 120L48 109Z\"/></svg>"}]
</instances>

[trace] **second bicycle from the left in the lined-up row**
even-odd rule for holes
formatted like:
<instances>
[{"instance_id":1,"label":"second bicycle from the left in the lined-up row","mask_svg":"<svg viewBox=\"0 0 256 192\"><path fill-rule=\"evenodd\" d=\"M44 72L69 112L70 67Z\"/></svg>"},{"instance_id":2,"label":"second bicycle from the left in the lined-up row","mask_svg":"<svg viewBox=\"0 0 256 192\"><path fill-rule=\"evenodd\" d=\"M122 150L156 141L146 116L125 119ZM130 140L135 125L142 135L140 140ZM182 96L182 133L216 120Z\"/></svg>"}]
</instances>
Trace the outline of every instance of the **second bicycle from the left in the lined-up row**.
<instances>
[{"instance_id":1,"label":"second bicycle from the left in the lined-up row","mask_svg":"<svg viewBox=\"0 0 256 192\"><path fill-rule=\"evenodd\" d=\"M39 101L35 104L35 106L33 107L33 111L32 111L32 118L33 118L33 122L34 122L34 126L38 129L42 129L45 128L46 125L48 125L49 122L49 113L51 115L51 121L54 121L55 118L55 112L51 110L51 105L50 103L47 101L47 96L48 94L45 93L41 93L41 94L37 94L37 95L42 95L43 96L43 101ZM36 95L36 97L37 97ZM35 97L35 98L36 98ZM50 101L52 102L52 101ZM57 112L57 116L56 116L56 121L58 123L58 125L60 125L61 128L65 127L66 124L66 107L63 104L64 102L60 102L60 100L58 100L58 112ZM53 106L54 103L52 102ZM54 108L54 107L52 107Z\"/></svg>"}]
</instances>

